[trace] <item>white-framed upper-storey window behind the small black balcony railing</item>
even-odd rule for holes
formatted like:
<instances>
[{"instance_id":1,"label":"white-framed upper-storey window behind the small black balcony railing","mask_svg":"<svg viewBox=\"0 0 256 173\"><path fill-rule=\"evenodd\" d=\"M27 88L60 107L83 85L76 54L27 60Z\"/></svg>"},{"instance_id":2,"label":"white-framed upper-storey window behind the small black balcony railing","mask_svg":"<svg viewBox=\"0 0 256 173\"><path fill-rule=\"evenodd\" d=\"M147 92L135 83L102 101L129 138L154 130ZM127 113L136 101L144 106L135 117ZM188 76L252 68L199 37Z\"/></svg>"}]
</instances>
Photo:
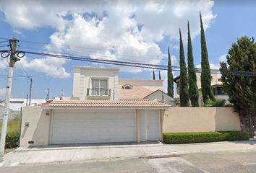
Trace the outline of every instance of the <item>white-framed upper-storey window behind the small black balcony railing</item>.
<instances>
[{"instance_id":1,"label":"white-framed upper-storey window behind the small black balcony railing","mask_svg":"<svg viewBox=\"0 0 256 173\"><path fill-rule=\"evenodd\" d=\"M108 80L92 79L92 95L108 95Z\"/></svg>"}]
</instances>

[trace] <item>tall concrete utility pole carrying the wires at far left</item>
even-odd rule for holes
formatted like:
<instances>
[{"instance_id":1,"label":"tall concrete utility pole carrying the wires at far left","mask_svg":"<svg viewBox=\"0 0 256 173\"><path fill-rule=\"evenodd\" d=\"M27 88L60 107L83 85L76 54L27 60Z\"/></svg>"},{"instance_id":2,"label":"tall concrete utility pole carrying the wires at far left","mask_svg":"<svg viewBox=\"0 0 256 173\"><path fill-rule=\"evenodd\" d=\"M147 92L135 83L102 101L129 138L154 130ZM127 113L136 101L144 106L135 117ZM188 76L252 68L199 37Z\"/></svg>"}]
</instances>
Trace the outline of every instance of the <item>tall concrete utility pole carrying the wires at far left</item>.
<instances>
[{"instance_id":1,"label":"tall concrete utility pole carrying the wires at far left","mask_svg":"<svg viewBox=\"0 0 256 173\"><path fill-rule=\"evenodd\" d=\"M5 146L5 138L7 136L7 123L8 123L8 115L9 115L9 101L10 101L11 89L12 89L13 68L14 68L14 63L16 63L16 61L20 61L19 58L16 58L17 42L18 40L16 38L9 40L9 45L11 47L11 50L9 52L9 58L10 58L9 71L7 76L7 89L5 94L4 115L3 115L2 126L1 126L0 161L3 161L4 159L4 146Z\"/></svg>"}]
</instances>

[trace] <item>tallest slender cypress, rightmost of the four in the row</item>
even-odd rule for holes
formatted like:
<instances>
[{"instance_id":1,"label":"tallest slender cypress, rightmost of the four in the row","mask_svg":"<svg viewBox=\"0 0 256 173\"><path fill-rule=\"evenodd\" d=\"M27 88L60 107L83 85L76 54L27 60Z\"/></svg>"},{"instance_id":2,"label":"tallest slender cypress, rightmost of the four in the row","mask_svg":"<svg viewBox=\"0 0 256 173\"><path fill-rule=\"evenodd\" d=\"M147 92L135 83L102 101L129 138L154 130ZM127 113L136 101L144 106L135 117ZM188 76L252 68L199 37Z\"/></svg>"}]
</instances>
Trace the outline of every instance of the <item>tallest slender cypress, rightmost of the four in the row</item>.
<instances>
[{"instance_id":1,"label":"tallest slender cypress, rightmost of the four in the row","mask_svg":"<svg viewBox=\"0 0 256 173\"><path fill-rule=\"evenodd\" d=\"M210 86L211 83L211 76L210 76L210 65L208 60L208 50L206 46L205 40L205 30L203 29L202 25L202 16L200 12L200 26L201 26L201 88L202 88L202 99L203 102L206 102L207 99L215 100L213 97L212 87Z\"/></svg>"}]
</instances>

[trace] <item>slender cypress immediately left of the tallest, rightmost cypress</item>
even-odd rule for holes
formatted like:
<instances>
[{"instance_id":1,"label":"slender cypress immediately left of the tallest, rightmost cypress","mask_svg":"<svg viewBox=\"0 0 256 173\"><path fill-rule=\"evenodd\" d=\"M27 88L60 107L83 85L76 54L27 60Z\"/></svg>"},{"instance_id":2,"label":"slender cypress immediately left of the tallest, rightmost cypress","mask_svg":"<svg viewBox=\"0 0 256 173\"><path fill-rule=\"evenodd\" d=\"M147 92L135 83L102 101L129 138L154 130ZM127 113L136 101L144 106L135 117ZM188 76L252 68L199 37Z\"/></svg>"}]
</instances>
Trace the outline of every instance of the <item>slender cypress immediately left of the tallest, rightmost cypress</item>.
<instances>
[{"instance_id":1,"label":"slender cypress immediately left of the tallest, rightmost cypress","mask_svg":"<svg viewBox=\"0 0 256 173\"><path fill-rule=\"evenodd\" d=\"M189 99L192 107L198 107L198 88L197 76L195 74L195 65L193 58L192 42L190 37L189 22L187 22L187 66L189 78Z\"/></svg>"}]
</instances>

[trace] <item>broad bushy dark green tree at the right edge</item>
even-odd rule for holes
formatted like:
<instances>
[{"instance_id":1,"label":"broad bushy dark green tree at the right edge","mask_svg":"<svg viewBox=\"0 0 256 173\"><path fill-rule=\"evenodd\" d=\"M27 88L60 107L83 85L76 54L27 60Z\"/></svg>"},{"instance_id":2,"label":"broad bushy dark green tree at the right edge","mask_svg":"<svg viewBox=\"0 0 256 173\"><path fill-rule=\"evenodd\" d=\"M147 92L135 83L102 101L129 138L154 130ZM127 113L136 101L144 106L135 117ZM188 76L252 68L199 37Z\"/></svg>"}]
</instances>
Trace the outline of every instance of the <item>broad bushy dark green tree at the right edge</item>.
<instances>
[{"instance_id":1,"label":"broad bushy dark green tree at the right edge","mask_svg":"<svg viewBox=\"0 0 256 173\"><path fill-rule=\"evenodd\" d=\"M244 127L251 135L256 130L256 76L249 72L256 71L255 39L241 37L233 43L226 56L226 62L221 62L221 81L223 89L229 95ZM248 71L242 74L239 71Z\"/></svg>"}]
</instances>

